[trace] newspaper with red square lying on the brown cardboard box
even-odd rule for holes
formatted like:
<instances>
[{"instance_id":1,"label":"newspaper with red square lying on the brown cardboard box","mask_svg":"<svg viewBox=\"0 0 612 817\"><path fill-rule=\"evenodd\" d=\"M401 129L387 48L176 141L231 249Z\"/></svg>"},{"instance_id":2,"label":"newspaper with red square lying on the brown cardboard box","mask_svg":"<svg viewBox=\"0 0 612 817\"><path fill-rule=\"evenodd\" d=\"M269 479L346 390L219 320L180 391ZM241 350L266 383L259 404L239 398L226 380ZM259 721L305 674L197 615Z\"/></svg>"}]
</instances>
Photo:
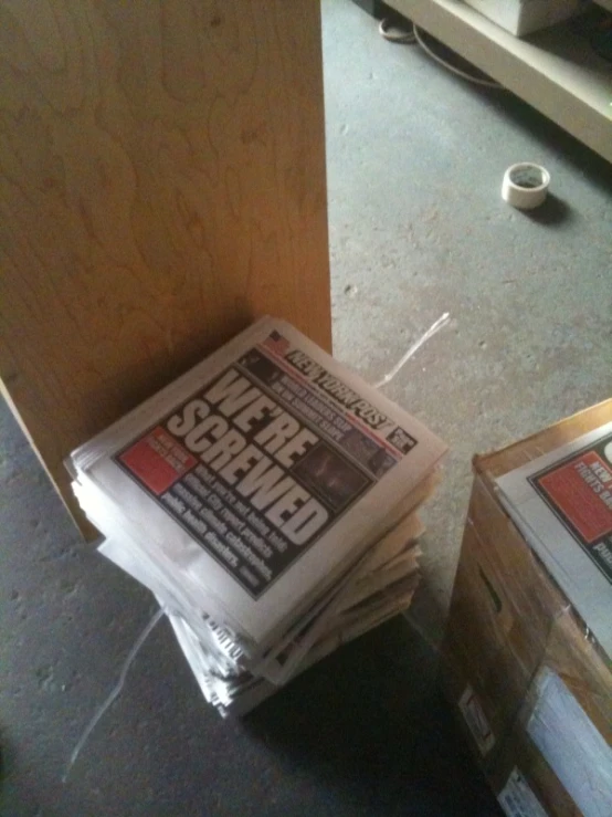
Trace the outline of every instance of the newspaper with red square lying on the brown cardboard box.
<instances>
[{"instance_id":1,"label":"newspaper with red square lying on the brown cardboard box","mask_svg":"<svg viewBox=\"0 0 612 817\"><path fill-rule=\"evenodd\" d=\"M612 422L497 479L525 538L612 658Z\"/></svg>"}]
</instances>

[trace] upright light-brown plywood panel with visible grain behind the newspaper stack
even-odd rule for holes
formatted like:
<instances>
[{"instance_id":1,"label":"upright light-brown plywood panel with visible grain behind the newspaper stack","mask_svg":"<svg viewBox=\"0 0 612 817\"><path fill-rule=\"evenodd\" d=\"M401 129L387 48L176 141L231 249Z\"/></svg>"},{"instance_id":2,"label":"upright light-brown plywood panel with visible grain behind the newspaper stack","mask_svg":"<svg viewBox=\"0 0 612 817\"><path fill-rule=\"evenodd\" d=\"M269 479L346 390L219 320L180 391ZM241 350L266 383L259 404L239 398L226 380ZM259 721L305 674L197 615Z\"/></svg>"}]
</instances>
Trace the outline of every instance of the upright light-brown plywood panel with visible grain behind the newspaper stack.
<instances>
[{"instance_id":1,"label":"upright light-brown plywood panel with visible grain behind the newspaper stack","mask_svg":"<svg viewBox=\"0 0 612 817\"><path fill-rule=\"evenodd\" d=\"M255 316L329 347L319 8L0 0L0 377L71 504L67 452Z\"/></svg>"}]
</instances>

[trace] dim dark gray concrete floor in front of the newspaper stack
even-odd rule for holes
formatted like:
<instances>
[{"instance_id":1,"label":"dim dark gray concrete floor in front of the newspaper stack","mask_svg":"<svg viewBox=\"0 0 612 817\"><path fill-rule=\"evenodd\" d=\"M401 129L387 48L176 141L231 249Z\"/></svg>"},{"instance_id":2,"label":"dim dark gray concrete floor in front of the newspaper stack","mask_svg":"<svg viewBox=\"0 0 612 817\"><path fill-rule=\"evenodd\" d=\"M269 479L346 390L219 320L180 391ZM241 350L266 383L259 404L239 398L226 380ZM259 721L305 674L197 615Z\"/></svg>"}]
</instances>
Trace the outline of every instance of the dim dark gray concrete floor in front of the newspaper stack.
<instances>
[{"instance_id":1,"label":"dim dark gray concrete floor in front of the newspaper stack","mask_svg":"<svg viewBox=\"0 0 612 817\"><path fill-rule=\"evenodd\" d=\"M157 626L65 783L151 596L84 545L0 409L2 817L496 817L401 619L244 721L202 700Z\"/></svg>"}]
</instances>

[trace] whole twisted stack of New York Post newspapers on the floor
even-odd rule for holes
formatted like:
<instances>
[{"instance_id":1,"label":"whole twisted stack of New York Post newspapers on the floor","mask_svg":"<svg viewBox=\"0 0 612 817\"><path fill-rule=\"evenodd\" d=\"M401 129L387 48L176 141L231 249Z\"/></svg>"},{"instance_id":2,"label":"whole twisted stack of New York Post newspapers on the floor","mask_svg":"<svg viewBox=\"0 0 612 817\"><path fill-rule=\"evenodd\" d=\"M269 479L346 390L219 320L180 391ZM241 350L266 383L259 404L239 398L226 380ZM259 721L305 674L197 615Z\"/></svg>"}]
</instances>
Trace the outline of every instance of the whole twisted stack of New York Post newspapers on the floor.
<instances>
[{"instance_id":1,"label":"whole twisted stack of New York Post newspapers on the floor","mask_svg":"<svg viewBox=\"0 0 612 817\"><path fill-rule=\"evenodd\" d=\"M156 595L226 715L409 606L444 451L264 318L67 464L101 552Z\"/></svg>"}]
</instances>

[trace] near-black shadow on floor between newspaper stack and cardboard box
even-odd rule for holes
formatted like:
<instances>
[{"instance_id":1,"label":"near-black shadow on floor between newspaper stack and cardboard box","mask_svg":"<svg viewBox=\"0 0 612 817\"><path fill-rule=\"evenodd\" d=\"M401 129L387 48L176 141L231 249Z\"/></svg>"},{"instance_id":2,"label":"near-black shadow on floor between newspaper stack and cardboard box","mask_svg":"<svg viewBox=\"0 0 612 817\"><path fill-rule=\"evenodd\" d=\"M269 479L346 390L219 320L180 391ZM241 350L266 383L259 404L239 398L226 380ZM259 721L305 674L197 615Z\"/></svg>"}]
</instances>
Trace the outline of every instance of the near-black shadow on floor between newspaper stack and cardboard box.
<instances>
[{"instance_id":1,"label":"near-black shadow on floor between newspaper stack and cardboard box","mask_svg":"<svg viewBox=\"0 0 612 817\"><path fill-rule=\"evenodd\" d=\"M498 815L436 674L436 656L398 617L305 673L244 726L294 768L346 788L365 814Z\"/></svg>"}]
</instances>

